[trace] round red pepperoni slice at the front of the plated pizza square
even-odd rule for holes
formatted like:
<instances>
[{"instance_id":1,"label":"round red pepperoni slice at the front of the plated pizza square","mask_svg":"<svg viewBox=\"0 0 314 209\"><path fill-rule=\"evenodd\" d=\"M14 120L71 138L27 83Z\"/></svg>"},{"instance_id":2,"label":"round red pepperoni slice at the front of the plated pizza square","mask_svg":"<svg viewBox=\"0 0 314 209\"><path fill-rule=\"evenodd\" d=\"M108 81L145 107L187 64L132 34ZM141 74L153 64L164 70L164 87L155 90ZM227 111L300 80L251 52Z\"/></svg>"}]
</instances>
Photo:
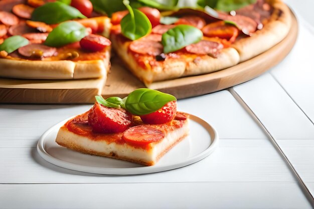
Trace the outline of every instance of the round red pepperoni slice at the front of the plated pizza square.
<instances>
[{"instance_id":1,"label":"round red pepperoni slice at the front of the plated pizza square","mask_svg":"<svg viewBox=\"0 0 314 209\"><path fill-rule=\"evenodd\" d=\"M123 139L132 145L145 146L152 142L161 141L165 133L150 125L133 126L123 133Z\"/></svg>"}]
</instances>

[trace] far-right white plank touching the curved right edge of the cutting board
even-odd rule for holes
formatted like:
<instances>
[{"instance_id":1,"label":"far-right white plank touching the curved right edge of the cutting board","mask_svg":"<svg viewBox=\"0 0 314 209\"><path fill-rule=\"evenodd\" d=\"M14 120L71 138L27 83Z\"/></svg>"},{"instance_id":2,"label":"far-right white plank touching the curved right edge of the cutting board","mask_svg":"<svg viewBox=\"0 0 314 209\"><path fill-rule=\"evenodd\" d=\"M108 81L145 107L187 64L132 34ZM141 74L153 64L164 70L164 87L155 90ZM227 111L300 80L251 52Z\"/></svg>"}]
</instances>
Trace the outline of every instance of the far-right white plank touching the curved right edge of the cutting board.
<instances>
[{"instance_id":1,"label":"far-right white plank touching the curved right edge of the cutting board","mask_svg":"<svg viewBox=\"0 0 314 209\"><path fill-rule=\"evenodd\" d=\"M305 4L301 4L305 5ZM270 72L295 103L314 122L314 34L299 22L297 42L290 54ZM301 53L300 53L301 52Z\"/></svg>"}]
</instances>

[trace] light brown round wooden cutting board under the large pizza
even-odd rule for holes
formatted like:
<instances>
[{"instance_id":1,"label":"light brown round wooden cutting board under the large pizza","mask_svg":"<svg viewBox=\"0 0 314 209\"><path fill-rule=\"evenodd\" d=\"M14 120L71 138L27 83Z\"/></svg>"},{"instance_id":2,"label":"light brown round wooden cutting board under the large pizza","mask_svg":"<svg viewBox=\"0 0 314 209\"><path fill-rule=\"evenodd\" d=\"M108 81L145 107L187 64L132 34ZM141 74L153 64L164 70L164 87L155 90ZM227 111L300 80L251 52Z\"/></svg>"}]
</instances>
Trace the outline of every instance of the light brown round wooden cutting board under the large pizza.
<instances>
[{"instance_id":1,"label":"light brown round wooden cutting board under the large pizza","mask_svg":"<svg viewBox=\"0 0 314 209\"><path fill-rule=\"evenodd\" d=\"M236 66L210 74L152 83L149 88L173 94L178 99L199 96L249 81L283 60L293 48L298 25L292 14L290 32L268 51ZM83 80L19 80L0 78L1 103L83 104L94 103L95 95L124 97L145 86L121 65L111 59L108 78Z\"/></svg>"}]
</instances>

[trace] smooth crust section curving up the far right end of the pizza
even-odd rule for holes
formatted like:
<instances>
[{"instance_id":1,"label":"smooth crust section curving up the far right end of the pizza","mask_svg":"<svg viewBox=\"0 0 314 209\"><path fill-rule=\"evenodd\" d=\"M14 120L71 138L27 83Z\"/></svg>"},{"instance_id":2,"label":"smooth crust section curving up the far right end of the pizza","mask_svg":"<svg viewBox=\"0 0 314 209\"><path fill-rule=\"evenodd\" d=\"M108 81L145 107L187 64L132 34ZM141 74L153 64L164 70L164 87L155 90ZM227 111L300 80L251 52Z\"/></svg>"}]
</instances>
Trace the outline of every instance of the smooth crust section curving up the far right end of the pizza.
<instances>
[{"instance_id":1,"label":"smooth crust section curving up the far right end of the pizza","mask_svg":"<svg viewBox=\"0 0 314 209\"><path fill-rule=\"evenodd\" d=\"M278 44L288 34L291 27L291 12L281 1L271 1L274 12L269 22L252 36L236 41L231 47L240 55L240 62L249 60ZM278 14L280 16L278 17Z\"/></svg>"}]
</instances>

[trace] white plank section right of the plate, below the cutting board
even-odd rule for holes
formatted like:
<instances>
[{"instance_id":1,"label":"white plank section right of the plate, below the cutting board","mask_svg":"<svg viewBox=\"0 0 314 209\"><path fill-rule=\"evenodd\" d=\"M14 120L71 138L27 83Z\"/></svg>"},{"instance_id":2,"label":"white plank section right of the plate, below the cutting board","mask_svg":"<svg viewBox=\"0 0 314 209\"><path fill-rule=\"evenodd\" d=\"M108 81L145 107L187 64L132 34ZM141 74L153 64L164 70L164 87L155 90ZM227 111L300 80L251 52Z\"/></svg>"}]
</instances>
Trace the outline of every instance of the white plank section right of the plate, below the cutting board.
<instances>
[{"instance_id":1,"label":"white plank section right of the plate, below the cutting board","mask_svg":"<svg viewBox=\"0 0 314 209\"><path fill-rule=\"evenodd\" d=\"M212 124L223 139L267 138L228 91L180 100L178 109Z\"/></svg>"}]
</instances>

